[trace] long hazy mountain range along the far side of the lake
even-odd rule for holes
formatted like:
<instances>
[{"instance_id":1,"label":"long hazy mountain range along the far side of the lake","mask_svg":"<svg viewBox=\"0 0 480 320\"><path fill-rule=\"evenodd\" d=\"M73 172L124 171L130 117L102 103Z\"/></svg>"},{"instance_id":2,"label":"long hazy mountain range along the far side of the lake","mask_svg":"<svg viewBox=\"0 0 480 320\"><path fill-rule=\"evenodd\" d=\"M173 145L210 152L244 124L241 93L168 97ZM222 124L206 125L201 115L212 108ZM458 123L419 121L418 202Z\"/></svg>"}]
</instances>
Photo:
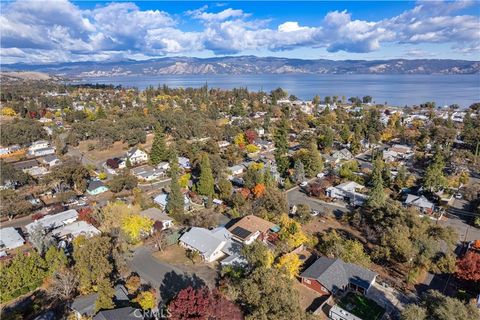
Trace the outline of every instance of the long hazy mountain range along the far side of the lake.
<instances>
[{"instance_id":1,"label":"long hazy mountain range along the far side of the lake","mask_svg":"<svg viewBox=\"0 0 480 320\"><path fill-rule=\"evenodd\" d=\"M303 60L275 57L167 57L144 61L3 65L2 71L37 71L68 78L183 74L476 74L480 61Z\"/></svg>"}]
</instances>

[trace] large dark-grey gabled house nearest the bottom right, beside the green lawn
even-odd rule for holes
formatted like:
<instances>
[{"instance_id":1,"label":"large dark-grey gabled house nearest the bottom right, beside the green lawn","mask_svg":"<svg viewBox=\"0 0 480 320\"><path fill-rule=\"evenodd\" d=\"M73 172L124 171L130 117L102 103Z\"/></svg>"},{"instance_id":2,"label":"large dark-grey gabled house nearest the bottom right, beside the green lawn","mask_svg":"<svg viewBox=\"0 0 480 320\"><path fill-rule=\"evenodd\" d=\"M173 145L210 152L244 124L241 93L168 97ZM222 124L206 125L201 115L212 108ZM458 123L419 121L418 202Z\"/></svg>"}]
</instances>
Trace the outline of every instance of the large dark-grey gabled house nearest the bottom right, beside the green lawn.
<instances>
[{"instance_id":1,"label":"large dark-grey gabled house nearest the bottom right, beside the green lawn","mask_svg":"<svg viewBox=\"0 0 480 320\"><path fill-rule=\"evenodd\" d=\"M300 274L302 284L321 295L336 294L346 289L366 294L376 277L375 272L359 265L327 257L320 257Z\"/></svg>"}]
</instances>

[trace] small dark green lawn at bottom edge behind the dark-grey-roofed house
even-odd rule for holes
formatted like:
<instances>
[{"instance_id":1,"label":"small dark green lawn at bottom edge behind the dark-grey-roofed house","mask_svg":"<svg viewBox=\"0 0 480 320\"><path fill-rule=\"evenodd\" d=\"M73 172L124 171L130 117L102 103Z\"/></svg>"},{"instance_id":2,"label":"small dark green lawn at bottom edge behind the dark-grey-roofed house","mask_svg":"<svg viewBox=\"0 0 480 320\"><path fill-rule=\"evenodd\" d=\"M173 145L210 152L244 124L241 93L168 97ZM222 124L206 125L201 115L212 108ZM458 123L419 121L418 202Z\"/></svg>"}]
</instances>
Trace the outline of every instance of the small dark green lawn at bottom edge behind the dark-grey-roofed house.
<instances>
[{"instance_id":1,"label":"small dark green lawn at bottom edge behind the dark-grey-roofed house","mask_svg":"<svg viewBox=\"0 0 480 320\"><path fill-rule=\"evenodd\" d=\"M385 313L385 309L376 304L375 301L353 292L349 292L342 297L338 301L338 305L342 309L365 320L380 319Z\"/></svg>"}]
</instances>

